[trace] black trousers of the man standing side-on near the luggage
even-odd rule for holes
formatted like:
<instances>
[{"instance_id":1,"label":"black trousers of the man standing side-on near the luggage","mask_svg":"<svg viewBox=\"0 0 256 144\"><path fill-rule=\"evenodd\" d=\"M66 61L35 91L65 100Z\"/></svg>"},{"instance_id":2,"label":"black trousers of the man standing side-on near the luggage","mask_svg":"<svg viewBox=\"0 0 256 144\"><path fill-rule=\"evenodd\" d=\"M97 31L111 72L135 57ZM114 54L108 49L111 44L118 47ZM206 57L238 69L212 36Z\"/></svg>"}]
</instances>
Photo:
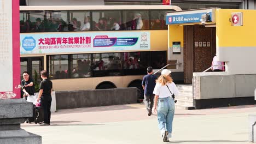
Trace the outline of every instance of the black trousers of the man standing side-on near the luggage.
<instances>
[{"instance_id":1,"label":"black trousers of the man standing side-on near the luggage","mask_svg":"<svg viewBox=\"0 0 256 144\"><path fill-rule=\"evenodd\" d=\"M42 105L43 111L44 111L44 123L50 124L50 119L51 119L51 96L42 95L41 105Z\"/></svg>"}]
</instances>

